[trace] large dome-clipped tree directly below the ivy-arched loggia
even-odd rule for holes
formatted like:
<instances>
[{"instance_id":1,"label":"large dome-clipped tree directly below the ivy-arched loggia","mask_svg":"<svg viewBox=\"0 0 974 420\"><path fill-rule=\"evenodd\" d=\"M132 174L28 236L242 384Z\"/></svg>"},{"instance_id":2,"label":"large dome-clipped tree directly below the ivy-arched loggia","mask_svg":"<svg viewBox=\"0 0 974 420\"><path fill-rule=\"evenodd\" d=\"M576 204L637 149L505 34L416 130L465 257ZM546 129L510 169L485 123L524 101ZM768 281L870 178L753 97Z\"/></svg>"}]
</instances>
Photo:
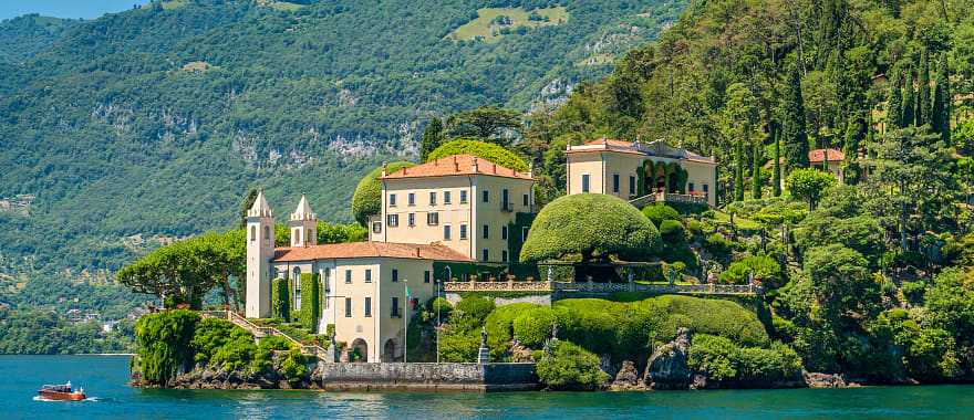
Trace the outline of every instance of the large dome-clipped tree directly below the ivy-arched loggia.
<instances>
[{"instance_id":1,"label":"large dome-clipped tree directly below the ivy-arched loggia","mask_svg":"<svg viewBox=\"0 0 974 420\"><path fill-rule=\"evenodd\" d=\"M660 243L660 231L635 207L613 196L581 193L541 209L521 260L645 261Z\"/></svg>"}]
</instances>

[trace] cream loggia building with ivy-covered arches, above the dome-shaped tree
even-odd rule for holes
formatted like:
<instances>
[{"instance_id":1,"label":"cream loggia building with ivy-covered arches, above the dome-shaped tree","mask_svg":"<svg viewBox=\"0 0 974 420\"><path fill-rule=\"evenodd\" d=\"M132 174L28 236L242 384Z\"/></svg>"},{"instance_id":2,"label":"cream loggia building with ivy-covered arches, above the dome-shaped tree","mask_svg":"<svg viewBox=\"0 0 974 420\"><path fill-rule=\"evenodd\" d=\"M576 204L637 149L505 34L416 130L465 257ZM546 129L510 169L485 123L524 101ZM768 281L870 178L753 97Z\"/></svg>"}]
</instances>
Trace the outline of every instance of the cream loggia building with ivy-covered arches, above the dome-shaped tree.
<instances>
[{"instance_id":1,"label":"cream loggia building with ivy-covered arches, above the dome-shaped tree","mask_svg":"<svg viewBox=\"0 0 974 420\"><path fill-rule=\"evenodd\" d=\"M623 200L666 192L716 204L717 162L662 140L599 139L568 146L568 193L605 193ZM680 171L675 168L682 169Z\"/></svg>"}]
</instances>

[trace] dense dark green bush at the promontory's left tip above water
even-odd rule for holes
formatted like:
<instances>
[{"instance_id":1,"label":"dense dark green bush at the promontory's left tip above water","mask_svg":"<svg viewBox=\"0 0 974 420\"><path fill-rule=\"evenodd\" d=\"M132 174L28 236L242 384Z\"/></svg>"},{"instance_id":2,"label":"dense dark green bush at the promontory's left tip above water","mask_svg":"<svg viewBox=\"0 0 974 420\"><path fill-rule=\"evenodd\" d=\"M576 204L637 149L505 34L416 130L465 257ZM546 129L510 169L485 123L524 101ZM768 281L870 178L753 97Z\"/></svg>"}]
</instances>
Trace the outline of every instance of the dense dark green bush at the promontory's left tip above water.
<instances>
[{"instance_id":1,"label":"dense dark green bush at the promontory's left tip above water","mask_svg":"<svg viewBox=\"0 0 974 420\"><path fill-rule=\"evenodd\" d=\"M199 315L184 309L148 314L135 324L143 378L165 386L193 364L194 329Z\"/></svg>"}]
</instances>

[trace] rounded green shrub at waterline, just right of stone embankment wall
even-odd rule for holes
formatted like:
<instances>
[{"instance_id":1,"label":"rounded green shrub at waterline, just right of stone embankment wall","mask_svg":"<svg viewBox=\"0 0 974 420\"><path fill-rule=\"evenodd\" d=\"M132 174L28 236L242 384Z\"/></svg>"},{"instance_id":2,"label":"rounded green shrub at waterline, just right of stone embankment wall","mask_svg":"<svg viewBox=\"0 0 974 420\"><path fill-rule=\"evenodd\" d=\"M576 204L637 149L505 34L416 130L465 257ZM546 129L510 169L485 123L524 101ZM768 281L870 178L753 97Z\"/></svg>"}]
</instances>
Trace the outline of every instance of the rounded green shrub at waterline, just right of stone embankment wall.
<instances>
[{"instance_id":1,"label":"rounded green shrub at waterline, just right of stone embankment wall","mask_svg":"<svg viewBox=\"0 0 974 420\"><path fill-rule=\"evenodd\" d=\"M551 355L538 361L538 379L548 389L592 390L609 380L599 368L599 357L568 342L555 345Z\"/></svg>"}]
</instances>

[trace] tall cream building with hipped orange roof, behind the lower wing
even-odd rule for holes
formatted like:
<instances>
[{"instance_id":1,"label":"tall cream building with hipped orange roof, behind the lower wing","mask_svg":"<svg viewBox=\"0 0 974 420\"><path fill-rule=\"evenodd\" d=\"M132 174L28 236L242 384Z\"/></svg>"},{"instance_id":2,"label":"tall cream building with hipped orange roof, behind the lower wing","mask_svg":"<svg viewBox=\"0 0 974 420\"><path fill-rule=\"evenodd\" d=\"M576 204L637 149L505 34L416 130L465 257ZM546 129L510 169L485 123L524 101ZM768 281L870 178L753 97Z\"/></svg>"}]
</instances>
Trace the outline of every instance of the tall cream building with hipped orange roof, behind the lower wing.
<instances>
[{"instance_id":1,"label":"tall cream building with hipped orange roof, behind the lower wing","mask_svg":"<svg viewBox=\"0 0 974 420\"><path fill-rule=\"evenodd\" d=\"M517 214L536 212L529 172L475 156L448 156L383 174L381 181L372 241L439 242L478 262L509 263L517 260L511 242L527 238Z\"/></svg>"}]
</instances>

